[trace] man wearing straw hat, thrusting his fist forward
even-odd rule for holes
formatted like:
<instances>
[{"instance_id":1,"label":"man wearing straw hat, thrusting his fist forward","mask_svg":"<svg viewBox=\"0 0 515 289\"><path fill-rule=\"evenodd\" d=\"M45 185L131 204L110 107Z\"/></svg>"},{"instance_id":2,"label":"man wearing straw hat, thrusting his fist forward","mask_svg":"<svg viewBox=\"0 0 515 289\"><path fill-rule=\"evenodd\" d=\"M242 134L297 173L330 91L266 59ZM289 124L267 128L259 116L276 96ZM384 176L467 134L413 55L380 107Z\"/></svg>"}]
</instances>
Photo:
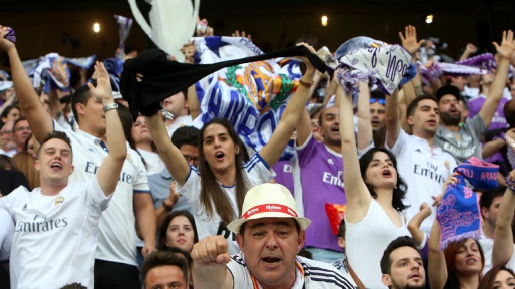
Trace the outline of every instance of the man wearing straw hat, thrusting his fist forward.
<instances>
[{"instance_id":1,"label":"man wearing straw hat, thrusting his fist forward","mask_svg":"<svg viewBox=\"0 0 515 289\"><path fill-rule=\"evenodd\" d=\"M192 250L198 288L352 288L330 264L298 257L311 221L297 216L291 193L279 184L250 189L243 216L228 228L240 254L229 255L223 236L210 236Z\"/></svg>"}]
</instances>

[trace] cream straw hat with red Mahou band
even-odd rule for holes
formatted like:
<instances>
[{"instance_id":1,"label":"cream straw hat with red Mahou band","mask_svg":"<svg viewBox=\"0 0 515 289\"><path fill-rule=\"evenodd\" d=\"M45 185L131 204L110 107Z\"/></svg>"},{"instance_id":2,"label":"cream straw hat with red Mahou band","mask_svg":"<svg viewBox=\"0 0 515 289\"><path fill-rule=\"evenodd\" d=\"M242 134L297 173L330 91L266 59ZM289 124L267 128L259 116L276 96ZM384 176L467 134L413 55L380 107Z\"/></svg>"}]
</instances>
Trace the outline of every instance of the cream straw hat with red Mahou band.
<instances>
[{"instance_id":1,"label":"cream straw hat with red Mahou band","mask_svg":"<svg viewBox=\"0 0 515 289\"><path fill-rule=\"evenodd\" d=\"M247 192L243 202L242 219L232 221L229 230L239 233L239 229L248 220L261 218L293 218L302 230L307 229L311 221L297 215L297 204L291 193L280 184L261 184Z\"/></svg>"}]
</instances>

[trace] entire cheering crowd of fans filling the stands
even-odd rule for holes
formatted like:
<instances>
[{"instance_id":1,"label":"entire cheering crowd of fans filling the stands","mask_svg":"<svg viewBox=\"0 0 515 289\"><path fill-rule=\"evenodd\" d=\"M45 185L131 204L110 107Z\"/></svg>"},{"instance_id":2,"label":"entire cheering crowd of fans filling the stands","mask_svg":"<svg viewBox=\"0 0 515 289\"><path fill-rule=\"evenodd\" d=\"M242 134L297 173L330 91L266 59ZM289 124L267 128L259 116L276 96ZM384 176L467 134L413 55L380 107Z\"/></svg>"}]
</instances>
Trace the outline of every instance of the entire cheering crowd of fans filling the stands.
<instances>
[{"instance_id":1,"label":"entire cheering crowd of fans filling the stands","mask_svg":"<svg viewBox=\"0 0 515 289\"><path fill-rule=\"evenodd\" d=\"M29 73L0 26L0 288L515 288L513 31L242 34Z\"/></svg>"}]
</instances>

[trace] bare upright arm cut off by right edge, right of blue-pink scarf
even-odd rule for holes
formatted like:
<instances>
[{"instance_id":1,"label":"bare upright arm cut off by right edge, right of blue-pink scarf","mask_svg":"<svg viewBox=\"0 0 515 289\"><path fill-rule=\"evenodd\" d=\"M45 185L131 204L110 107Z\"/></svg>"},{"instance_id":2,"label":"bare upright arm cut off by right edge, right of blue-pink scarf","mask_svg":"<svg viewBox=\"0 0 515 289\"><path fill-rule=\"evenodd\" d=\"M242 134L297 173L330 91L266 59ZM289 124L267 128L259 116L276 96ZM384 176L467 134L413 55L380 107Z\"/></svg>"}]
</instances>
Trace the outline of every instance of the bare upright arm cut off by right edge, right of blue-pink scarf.
<instances>
[{"instance_id":1,"label":"bare upright arm cut off by right edge, right of blue-pink scarf","mask_svg":"<svg viewBox=\"0 0 515 289\"><path fill-rule=\"evenodd\" d=\"M515 171L511 171L509 177L515 179ZM512 191L508 186L495 223L492 266L506 265L513 254L513 232L511 228L513 212L515 212L515 191Z\"/></svg>"}]
</instances>

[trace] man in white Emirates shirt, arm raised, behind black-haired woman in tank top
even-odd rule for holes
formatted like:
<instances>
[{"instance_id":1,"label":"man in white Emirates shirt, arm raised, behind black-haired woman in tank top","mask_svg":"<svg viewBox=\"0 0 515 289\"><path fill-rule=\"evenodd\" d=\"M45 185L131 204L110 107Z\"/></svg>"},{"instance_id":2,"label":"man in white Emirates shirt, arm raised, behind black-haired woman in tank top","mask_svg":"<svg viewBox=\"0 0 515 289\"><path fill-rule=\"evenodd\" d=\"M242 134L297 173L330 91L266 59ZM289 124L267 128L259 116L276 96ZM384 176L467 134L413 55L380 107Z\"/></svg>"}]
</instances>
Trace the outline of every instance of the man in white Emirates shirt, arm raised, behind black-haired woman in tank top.
<instances>
[{"instance_id":1,"label":"man in white Emirates shirt, arm raised, behind black-haired woman in tank top","mask_svg":"<svg viewBox=\"0 0 515 289\"><path fill-rule=\"evenodd\" d=\"M408 185L405 203L407 219L419 212L422 203L432 204L432 196L441 193L442 185L456 167L454 157L433 143L438 130L440 114L438 104L432 96L414 99L407 109L407 122L413 130L408 135L401 128L399 99L386 99L386 148L397 157L399 174ZM434 212L421 226L425 232L431 230Z\"/></svg>"}]
</instances>

